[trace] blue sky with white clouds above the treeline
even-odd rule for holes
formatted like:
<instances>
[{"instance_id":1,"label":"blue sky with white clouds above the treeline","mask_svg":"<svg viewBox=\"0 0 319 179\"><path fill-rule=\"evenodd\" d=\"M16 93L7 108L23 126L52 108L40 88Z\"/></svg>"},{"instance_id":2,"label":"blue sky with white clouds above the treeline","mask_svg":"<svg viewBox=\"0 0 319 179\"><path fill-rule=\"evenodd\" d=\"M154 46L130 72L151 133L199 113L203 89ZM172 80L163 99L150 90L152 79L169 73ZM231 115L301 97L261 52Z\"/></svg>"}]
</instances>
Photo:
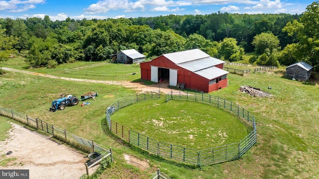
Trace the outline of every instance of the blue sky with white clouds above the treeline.
<instances>
[{"instance_id":1,"label":"blue sky with white clouds above the treeline","mask_svg":"<svg viewBox=\"0 0 319 179\"><path fill-rule=\"evenodd\" d=\"M313 0L0 0L0 18L49 15L51 20L153 17L159 15L290 13L306 11Z\"/></svg>"}]
</instances>

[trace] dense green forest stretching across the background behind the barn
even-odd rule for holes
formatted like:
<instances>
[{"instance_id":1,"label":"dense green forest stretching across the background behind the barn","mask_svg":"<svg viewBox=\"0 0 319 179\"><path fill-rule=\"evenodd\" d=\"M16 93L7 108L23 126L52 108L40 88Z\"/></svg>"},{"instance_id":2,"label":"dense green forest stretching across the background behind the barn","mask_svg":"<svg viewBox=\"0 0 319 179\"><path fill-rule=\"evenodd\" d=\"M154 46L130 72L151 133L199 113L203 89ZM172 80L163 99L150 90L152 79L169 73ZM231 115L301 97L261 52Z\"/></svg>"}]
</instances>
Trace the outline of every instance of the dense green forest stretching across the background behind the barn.
<instances>
[{"instance_id":1,"label":"dense green forest stretching across the background behind the barn","mask_svg":"<svg viewBox=\"0 0 319 179\"><path fill-rule=\"evenodd\" d=\"M136 49L149 59L199 48L212 57L258 65L305 61L319 70L319 1L303 14L167 15L52 21L0 18L0 62L21 55L32 68L105 61Z\"/></svg>"}]
</instances>

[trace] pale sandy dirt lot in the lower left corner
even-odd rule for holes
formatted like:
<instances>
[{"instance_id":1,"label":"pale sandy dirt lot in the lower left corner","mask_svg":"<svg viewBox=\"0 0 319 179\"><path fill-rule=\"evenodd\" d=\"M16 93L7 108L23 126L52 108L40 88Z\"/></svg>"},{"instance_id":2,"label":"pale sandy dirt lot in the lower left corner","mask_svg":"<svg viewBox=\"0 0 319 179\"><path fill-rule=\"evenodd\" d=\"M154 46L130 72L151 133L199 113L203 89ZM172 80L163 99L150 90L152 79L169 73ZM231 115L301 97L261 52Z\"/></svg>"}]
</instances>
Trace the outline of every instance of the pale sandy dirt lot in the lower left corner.
<instances>
[{"instance_id":1,"label":"pale sandy dirt lot in the lower left corner","mask_svg":"<svg viewBox=\"0 0 319 179\"><path fill-rule=\"evenodd\" d=\"M0 163L16 160L1 169L29 170L30 179L79 179L86 174L87 156L50 138L12 123L7 139L0 141Z\"/></svg>"}]
</instances>

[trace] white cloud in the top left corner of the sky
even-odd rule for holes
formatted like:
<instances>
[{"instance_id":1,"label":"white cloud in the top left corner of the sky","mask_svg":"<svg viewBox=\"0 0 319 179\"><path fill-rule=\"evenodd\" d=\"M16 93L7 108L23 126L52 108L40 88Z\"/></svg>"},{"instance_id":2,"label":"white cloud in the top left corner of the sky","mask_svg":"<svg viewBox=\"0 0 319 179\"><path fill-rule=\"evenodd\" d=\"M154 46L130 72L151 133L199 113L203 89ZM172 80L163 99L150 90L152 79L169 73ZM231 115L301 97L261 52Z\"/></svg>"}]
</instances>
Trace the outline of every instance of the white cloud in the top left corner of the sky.
<instances>
[{"instance_id":1,"label":"white cloud in the top left corner of the sky","mask_svg":"<svg viewBox=\"0 0 319 179\"><path fill-rule=\"evenodd\" d=\"M0 10L23 12L35 8L34 4L44 3L45 0L0 0Z\"/></svg>"}]
</instances>

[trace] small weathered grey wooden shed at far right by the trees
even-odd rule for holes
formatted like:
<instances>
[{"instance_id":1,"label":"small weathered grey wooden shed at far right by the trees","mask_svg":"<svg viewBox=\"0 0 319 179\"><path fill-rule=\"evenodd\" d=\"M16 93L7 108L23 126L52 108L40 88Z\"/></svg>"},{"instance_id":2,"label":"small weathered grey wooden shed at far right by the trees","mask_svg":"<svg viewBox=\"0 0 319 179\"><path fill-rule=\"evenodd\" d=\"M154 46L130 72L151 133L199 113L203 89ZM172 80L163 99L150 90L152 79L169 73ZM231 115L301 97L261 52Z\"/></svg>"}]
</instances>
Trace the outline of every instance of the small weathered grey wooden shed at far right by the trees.
<instances>
[{"instance_id":1,"label":"small weathered grey wooden shed at far right by the trees","mask_svg":"<svg viewBox=\"0 0 319 179\"><path fill-rule=\"evenodd\" d=\"M286 77L293 80L307 81L313 69L314 67L306 62L298 62L286 67Z\"/></svg>"}]
</instances>

